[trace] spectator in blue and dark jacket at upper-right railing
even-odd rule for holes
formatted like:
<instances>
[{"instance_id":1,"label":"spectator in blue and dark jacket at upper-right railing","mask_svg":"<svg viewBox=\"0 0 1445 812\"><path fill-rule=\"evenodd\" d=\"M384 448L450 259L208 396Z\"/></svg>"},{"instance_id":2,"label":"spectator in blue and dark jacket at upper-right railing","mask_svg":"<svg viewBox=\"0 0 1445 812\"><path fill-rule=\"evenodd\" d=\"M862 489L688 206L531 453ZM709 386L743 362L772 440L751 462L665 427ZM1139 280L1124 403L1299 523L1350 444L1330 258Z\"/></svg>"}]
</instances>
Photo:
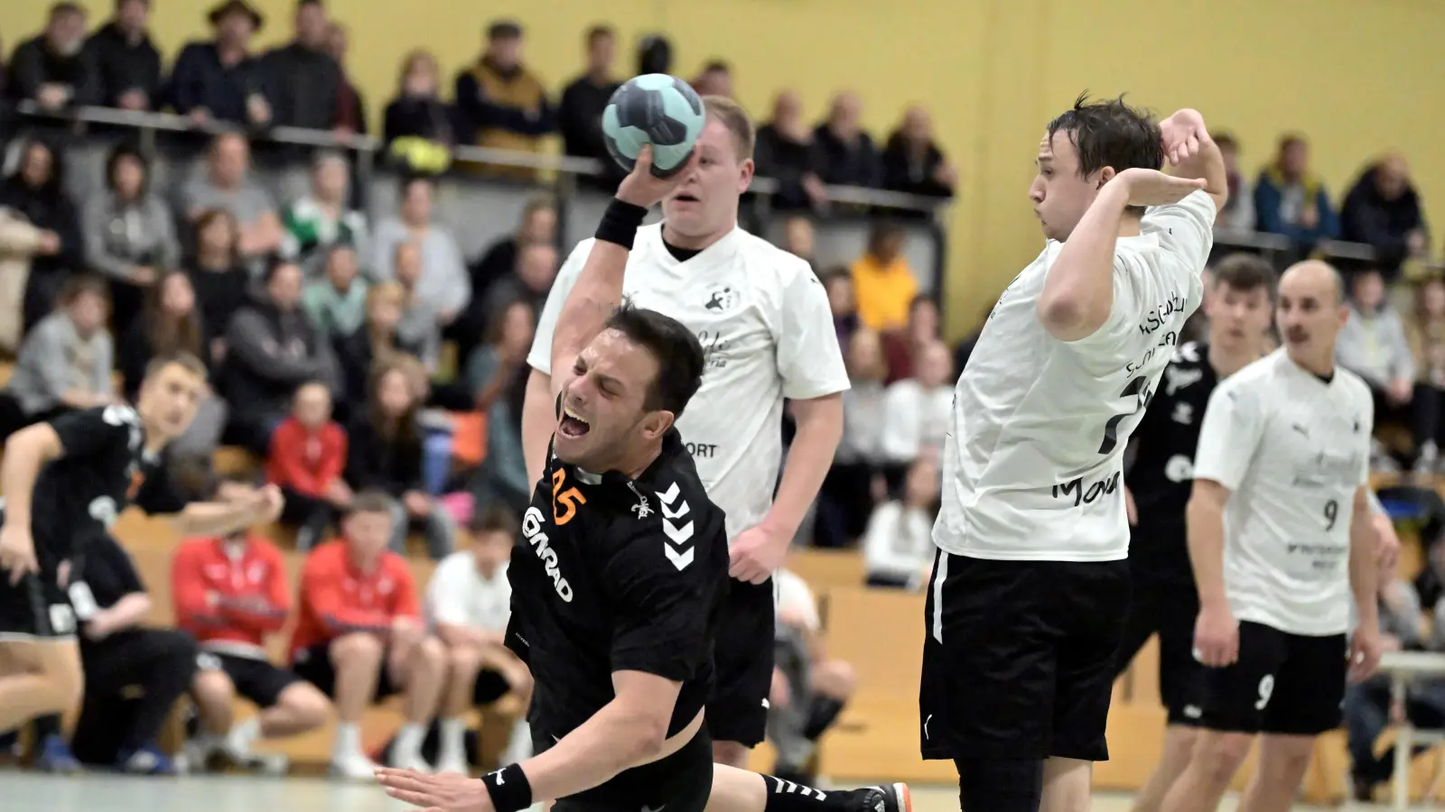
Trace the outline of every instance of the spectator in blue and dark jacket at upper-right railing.
<instances>
[{"instance_id":1,"label":"spectator in blue and dark jacket at upper-right railing","mask_svg":"<svg viewBox=\"0 0 1445 812\"><path fill-rule=\"evenodd\" d=\"M1329 205L1322 178L1309 170L1309 143L1285 136L1274 162L1254 183L1257 230L1283 234L1308 251L1319 240L1340 236L1340 218Z\"/></svg>"}]
</instances>

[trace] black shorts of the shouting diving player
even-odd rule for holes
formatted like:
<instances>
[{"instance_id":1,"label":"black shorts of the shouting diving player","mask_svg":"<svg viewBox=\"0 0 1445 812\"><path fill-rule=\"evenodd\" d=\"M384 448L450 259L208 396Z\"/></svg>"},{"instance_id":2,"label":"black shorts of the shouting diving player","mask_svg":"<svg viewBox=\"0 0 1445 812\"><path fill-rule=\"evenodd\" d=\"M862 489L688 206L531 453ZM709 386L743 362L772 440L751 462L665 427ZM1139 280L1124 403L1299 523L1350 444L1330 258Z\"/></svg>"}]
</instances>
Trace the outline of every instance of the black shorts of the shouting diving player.
<instances>
[{"instance_id":1,"label":"black shorts of the shouting diving player","mask_svg":"<svg viewBox=\"0 0 1445 812\"><path fill-rule=\"evenodd\" d=\"M536 753L555 743L533 740ZM623 770L605 783L559 798L553 812L702 812L712 795L712 740L704 725L692 741L666 759Z\"/></svg>"}]
</instances>

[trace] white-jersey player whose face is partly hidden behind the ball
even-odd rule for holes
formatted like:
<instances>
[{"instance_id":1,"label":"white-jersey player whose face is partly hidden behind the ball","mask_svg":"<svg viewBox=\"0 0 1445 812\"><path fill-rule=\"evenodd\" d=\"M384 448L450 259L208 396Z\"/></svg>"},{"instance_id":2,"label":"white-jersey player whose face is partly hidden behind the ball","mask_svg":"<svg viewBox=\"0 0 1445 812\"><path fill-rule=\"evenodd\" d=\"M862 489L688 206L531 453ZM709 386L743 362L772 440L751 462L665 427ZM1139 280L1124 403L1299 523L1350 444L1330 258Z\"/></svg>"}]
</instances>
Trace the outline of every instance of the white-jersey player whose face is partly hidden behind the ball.
<instances>
[{"instance_id":1,"label":"white-jersey player whose face is partly hidden behind the ball","mask_svg":"<svg viewBox=\"0 0 1445 812\"><path fill-rule=\"evenodd\" d=\"M848 373L812 267L737 224L738 198L753 178L751 121L725 98L705 97L704 105L708 120L692 176L663 199L662 224L637 228L623 293L695 331L707 354L702 387L678 431L708 496L727 511L733 581L715 642L717 688L707 722L717 760L743 767L767 730L772 574L832 464ZM640 223L642 214L636 218ZM522 435L532 481L556 422L552 331L592 244L584 240L564 263L527 355L533 371ZM798 433L779 483L785 397Z\"/></svg>"}]
</instances>

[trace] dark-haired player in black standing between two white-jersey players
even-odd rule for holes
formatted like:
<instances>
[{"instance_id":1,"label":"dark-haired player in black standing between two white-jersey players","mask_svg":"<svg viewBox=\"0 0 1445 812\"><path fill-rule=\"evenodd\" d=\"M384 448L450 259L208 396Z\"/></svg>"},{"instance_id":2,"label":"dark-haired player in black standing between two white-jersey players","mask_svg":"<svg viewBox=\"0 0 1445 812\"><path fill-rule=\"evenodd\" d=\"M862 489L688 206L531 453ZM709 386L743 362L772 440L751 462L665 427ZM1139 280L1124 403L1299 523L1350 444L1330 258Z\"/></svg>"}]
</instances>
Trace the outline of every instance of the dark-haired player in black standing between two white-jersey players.
<instances>
[{"instance_id":1,"label":"dark-haired player in black standing between two white-jersey players","mask_svg":"<svg viewBox=\"0 0 1445 812\"><path fill-rule=\"evenodd\" d=\"M1192 653L1199 598L1185 543L1194 452L1214 386L1264 354L1273 295L1274 270L1264 259L1220 260L1204 299L1208 341L1178 348L1130 444L1134 462L1124 474L1124 493L1134 591L1117 669L1123 673L1159 634L1159 696L1169 711L1159 764L1134 799L1136 812L1157 811L1189 761L1199 718L1194 682L1202 668Z\"/></svg>"}]
</instances>

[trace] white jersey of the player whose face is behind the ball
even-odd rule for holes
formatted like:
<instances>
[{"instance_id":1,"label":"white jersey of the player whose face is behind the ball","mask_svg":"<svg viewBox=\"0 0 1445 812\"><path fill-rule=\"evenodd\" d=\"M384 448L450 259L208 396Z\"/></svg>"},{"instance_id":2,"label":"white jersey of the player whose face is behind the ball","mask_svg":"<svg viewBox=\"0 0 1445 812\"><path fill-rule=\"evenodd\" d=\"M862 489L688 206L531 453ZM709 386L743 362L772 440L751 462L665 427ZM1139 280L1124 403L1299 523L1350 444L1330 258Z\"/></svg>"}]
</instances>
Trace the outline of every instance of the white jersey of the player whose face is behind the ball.
<instances>
[{"instance_id":1,"label":"white jersey of the player whose face is behind the ball","mask_svg":"<svg viewBox=\"0 0 1445 812\"><path fill-rule=\"evenodd\" d=\"M556 275L527 354L538 371L552 373L552 331L591 250L592 240L581 241ZM848 389L828 295L806 262L741 228L678 262L660 224L637 230L623 295L681 321L702 342L702 387L678 431L708 496L727 511L728 537L737 537L773 503L783 399Z\"/></svg>"}]
</instances>

